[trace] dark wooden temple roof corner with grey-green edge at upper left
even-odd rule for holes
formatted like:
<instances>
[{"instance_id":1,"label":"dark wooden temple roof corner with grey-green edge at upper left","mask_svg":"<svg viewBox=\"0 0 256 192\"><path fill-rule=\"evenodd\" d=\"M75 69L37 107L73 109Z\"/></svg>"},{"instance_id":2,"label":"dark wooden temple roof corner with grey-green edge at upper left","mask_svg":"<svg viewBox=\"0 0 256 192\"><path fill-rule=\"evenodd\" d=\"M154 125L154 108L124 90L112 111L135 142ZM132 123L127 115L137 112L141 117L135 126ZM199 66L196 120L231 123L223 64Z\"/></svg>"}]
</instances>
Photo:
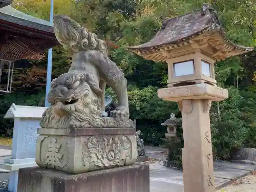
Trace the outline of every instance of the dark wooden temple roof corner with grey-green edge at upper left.
<instances>
[{"instance_id":1,"label":"dark wooden temple roof corner with grey-green edge at upper left","mask_svg":"<svg viewBox=\"0 0 256 192\"><path fill-rule=\"evenodd\" d=\"M0 45L7 49L3 59L10 61L24 59L59 45L49 22L11 6L0 9L0 34Z\"/></svg>"}]
</instances>

